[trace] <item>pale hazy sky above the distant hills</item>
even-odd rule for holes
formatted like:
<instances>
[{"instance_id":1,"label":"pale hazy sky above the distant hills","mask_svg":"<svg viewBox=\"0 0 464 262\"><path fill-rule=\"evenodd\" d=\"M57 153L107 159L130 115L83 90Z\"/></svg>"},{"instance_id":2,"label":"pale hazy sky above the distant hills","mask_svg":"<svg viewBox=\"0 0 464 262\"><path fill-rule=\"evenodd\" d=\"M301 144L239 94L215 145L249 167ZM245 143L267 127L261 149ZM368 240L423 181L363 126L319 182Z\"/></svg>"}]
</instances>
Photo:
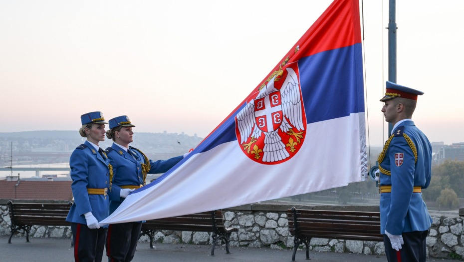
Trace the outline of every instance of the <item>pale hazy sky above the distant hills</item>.
<instances>
[{"instance_id":1,"label":"pale hazy sky above the distant hills","mask_svg":"<svg viewBox=\"0 0 464 262\"><path fill-rule=\"evenodd\" d=\"M205 137L330 3L2 0L0 132L78 130L81 114L102 111L128 115L136 132ZM464 142L463 11L462 0L397 3L397 82L425 92L413 120L430 141ZM382 2L364 1L364 19L370 144L380 146L388 1L383 20Z\"/></svg>"}]
</instances>

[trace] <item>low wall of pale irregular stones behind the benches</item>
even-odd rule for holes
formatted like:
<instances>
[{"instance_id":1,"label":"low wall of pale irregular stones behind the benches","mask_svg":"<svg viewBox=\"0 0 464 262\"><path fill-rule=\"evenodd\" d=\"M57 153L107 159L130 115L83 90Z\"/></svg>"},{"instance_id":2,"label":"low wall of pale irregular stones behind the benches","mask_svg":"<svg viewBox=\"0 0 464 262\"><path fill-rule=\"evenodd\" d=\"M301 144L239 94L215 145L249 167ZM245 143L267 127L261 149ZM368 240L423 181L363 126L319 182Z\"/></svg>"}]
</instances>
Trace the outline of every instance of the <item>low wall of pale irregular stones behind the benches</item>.
<instances>
[{"instance_id":1,"label":"low wall of pale irregular stones behind the benches","mask_svg":"<svg viewBox=\"0 0 464 262\"><path fill-rule=\"evenodd\" d=\"M19 202L19 201L16 201ZM379 212L378 206L306 206L293 205L297 209L365 211ZM271 249L293 248L293 237L288 230L287 209L292 205L251 204L225 209L225 226L237 228L238 232L231 235L232 247ZM464 257L464 209L460 210L459 218L433 218L434 222L427 237L427 254L438 258ZM9 235L11 222L7 207L0 200L0 236ZM22 237L16 234L15 237ZM38 227L33 226L32 238L71 238L70 227ZM148 242L147 236L142 236L140 242ZM187 231L158 231L155 233L155 243L164 244L195 244L211 245L212 233ZM303 250L303 247L300 247ZM383 242L343 241L334 239L311 239L310 250L317 252L351 252L357 254L385 255Z\"/></svg>"}]
</instances>

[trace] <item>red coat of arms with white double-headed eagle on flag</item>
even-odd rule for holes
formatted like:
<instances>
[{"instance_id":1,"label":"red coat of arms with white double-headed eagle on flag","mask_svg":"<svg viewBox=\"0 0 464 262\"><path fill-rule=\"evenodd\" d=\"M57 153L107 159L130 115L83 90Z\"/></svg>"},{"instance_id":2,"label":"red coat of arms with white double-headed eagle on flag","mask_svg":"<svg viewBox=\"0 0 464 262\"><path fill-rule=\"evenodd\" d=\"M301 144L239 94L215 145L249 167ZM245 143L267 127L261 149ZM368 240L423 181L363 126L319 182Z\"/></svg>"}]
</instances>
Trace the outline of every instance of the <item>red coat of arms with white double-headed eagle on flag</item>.
<instances>
[{"instance_id":1,"label":"red coat of arms with white double-headed eagle on flag","mask_svg":"<svg viewBox=\"0 0 464 262\"><path fill-rule=\"evenodd\" d=\"M295 49L295 53L298 48ZM279 164L304 141L306 115L298 63L285 59L235 117L235 133L245 155L261 164Z\"/></svg>"}]
</instances>

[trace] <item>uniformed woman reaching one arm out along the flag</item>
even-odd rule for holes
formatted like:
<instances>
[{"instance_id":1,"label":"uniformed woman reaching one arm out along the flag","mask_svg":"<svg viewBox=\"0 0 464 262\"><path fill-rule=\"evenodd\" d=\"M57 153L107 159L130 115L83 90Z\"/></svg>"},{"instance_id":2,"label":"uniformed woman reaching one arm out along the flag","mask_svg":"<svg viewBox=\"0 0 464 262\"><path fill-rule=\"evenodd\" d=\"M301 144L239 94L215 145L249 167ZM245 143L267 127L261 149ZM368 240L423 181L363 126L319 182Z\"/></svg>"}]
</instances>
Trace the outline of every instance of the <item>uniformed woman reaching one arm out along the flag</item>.
<instances>
[{"instance_id":1,"label":"uniformed woman reaching one arm out along the flag","mask_svg":"<svg viewBox=\"0 0 464 262\"><path fill-rule=\"evenodd\" d=\"M110 214L112 214L130 192L143 187L148 174L165 173L179 163L184 156L168 160L148 160L142 151L129 147L133 141L132 127L127 116L118 116L108 121L110 130L106 133L114 143L107 148L106 154L113 166L114 178L110 196ZM142 221L112 224L108 228L106 255L111 262L129 262L134 258Z\"/></svg>"}]
</instances>

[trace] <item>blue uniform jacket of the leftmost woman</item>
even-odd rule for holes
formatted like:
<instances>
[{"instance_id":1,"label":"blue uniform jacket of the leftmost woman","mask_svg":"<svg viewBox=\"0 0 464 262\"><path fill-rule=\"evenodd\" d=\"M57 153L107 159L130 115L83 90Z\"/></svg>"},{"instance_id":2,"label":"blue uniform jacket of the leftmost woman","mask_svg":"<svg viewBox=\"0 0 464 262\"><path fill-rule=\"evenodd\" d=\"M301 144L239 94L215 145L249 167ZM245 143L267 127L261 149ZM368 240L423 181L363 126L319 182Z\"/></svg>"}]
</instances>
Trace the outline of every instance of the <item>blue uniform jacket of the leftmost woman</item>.
<instances>
[{"instance_id":1,"label":"blue uniform jacket of the leftmost woman","mask_svg":"<svg viewBox=\"0 0 464 262\"><path fill-rule=\"evenodd\" d=\"M86 146L86 147L85 147ZM83 214L92 212L97 221L109 216L109 196L89 195L87 188L104 189L109 187L110 161L102 157L87 141L71 154L71 190L74 204L69 210L66 221L87 225ZM108 225L103 226L104 228Z\"/></svg>"}]
</instances>

